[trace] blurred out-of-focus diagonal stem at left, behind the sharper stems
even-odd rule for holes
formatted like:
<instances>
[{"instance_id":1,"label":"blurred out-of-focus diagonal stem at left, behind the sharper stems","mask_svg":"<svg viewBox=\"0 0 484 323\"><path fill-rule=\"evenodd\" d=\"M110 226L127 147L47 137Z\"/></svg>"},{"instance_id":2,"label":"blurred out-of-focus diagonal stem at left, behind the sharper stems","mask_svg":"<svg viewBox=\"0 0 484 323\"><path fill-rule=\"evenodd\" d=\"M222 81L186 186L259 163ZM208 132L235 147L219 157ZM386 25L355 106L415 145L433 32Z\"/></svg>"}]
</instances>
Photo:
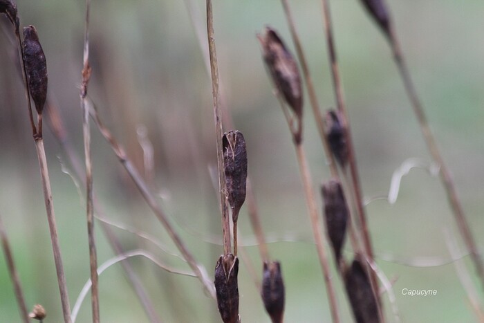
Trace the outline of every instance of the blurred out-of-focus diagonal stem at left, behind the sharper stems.
<instances>
[{"instance_id":1,"label":"blurred out-of-focus diagonal stem at left, behind the sharper stems","mask_svg":"<svg viewBox=\"0 0 484 323\"><path fill-rule=\"evenodd\" d=\"M80 158L79 156L77 156L75 149L73 148L72 142L67 136L64 122L62 122L62 119L59 116L59 111L57 110L55 104L52 103L52 100L48 100L47 104L48 118L50 120L50 127L52 129L52 132L57 141L59 141L62 149L66 152L66 156L71 163L75 174L78 178L81 178L82 185L84 185L85 187L86 181L84 180L84 178L86 176L83 175L84 172L82 170ZM93 196L93 207L95 213L102 214L99 205L97 205L96 203L95 196ZM108 224L101 222L101 228L106 235L106 238L108 239L111 248L115 252L115 255L121 255L123 252L121 243L113 233L113 230L111 230L111 227ZM138 296L140 304L144 308L147 316L149 317L150 322L161 322L153 304L151 303L151 300L149 299L149 296L147 295L145 288L143 288L138 275L136 275L136 273L134 272L133 267L131 266L131 264L129 264L129 261L126 259L121 261L121 266L124 269L124 272L126 273L127 278L131 283L131 286L133 287L133 290Z\"/></svg>"}]
</instances>

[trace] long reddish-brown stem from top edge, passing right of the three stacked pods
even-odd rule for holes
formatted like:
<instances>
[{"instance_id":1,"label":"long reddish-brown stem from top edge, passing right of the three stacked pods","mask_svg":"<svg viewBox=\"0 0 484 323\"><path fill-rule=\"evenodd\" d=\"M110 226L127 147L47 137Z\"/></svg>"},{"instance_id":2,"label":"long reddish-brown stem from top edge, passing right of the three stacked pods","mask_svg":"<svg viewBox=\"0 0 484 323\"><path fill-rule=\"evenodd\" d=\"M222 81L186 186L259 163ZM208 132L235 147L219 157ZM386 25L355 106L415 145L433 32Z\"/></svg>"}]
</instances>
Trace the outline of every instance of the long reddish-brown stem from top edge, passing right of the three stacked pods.
<instances>
[{"instance_id":1,"label":"long reddish-brown stem from top edge, passing right of the three stacked pods","mask_svg":"<svg viewBox=\"0 0 484 323\"><path fill-rule=\"evenodd\" d=\"M353 138L351 136L351 130L349 127L349 119L348 113L346 111L346 104L344 102L344 95L343 95L343 87L341 83L341 78L339 77L339 68L337 64L337 57L336 57L336 50L333 40L333 30L331 24L331 13L329 10L329 3L328 0L322 0L323 4L323 16L324 16L324 31L326 35L326 43L328 46L328 54L331 63L331 75L333 77L333 86L335 90L335 97L337 103L337 109L343 114L344 121L346 122L346 140L348 145L348 160L349 160L349 170L351 174L351 187L353 188L353 193L355 197L355 206L357 209L358 218L360 220L360 230L362 232L362 239L364 244L364 250L366 253L366 257L368 257L369 261L373 262L373 246L371 245L370 234L368 230L368 224L366 223L366 214L363 207L363 199L362 199L362 192L361 192L361 185L360 185L360 175L358 174L357 164L356 164L356 156L355 156L355 149L353 147ZM368 266L366 266L368 268ZM369 276L371 281L371 286L373 288L373 293L377 299L378 297L378 279L376 274L373 270L368 268ZM380 306L380 313L381 313L381 304L377 302L378 306Z\"/></svg>"}]
</instances>

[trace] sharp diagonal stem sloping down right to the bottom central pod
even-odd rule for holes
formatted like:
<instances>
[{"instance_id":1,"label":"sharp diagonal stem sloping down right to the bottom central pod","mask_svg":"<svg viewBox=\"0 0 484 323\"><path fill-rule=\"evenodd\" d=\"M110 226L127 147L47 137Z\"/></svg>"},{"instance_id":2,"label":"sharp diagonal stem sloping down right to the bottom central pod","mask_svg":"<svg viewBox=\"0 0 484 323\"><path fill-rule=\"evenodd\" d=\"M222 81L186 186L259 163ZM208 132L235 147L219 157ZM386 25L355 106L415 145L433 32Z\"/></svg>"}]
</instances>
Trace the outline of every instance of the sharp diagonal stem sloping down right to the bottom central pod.
<instances>
[{"instance_id":1,"label":"sharp diagonal stem sloping down right to the bottom central pod","mask_svg":"<svg viewBox=\"0 0 484 323\"><path fill-rule=\"evenodd\" d=\"M88 108L89 108L89 105L90 104L88 104ZM181 254L187 261L190 268L192 268L195 275L198 277L198 279L201 281L201 283L207 290L207 293L209 293L213 298L215 298L215 290L212 282L207 277L207 274L202 272L201 266L198 265L192 253L189 252L189 250L185 246L185 243L183 243L180 236L174 230L173 225L171 225L168 219L168 216L159 207L158 203L156 203L155 196L153 196L153 193L151 193L151 191L149 190L147 183L145 183L145 181L142 179L142 176L140 176L140 173L138 172L136 167L134 167L133 163L131 163L131 160L128 158L123 147L114 138L111 131L109 131L109 129L107 129L104 126L104 124L99 118L99 115L97 114L97 111L95 111L95 109L89 109L89 111L91 113L91 116L95 120L97 128L101 132L102 136L104 136L106 141L109 142L109 145L111 145L111 149L113 149L115 155L120 160L121 165L127 171L129 176L131 176L131 179L136 184L136 187L138 187L138 190L140 191L141 195L143 196L143 198L145 199L145 201L147 202L147 204L149 205L153 213L156 215L157 219L165 227L165 230L167 230L169 237L175 243L175 246L178 248L178 250L180 250Z\"/></svg>"}]
</instances>

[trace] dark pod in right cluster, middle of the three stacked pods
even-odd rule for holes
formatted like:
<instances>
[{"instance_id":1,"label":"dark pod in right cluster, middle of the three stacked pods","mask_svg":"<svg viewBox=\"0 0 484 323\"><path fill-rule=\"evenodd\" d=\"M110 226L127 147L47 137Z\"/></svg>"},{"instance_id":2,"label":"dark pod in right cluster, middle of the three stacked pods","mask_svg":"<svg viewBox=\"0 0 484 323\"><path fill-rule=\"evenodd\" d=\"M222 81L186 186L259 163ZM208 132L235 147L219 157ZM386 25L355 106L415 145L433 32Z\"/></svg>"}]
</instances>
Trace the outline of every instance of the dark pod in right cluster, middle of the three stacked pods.
<instances>
[{"instance_id":1,"label":"dark pod in right cluster, middle of the three stacked pods","mask_svg":"<svg viewBox=\"0 0 484 323\"><path fill-rule=\"evenodd\" d=\"M332 179L324 183L321 187L324 200L324 218L326 220L326 230L335 253L335 258L339 262L341 250L346 235L346 222L348 221L348 207L346 199L339 181Z\"/></svg>"}]
</instances>

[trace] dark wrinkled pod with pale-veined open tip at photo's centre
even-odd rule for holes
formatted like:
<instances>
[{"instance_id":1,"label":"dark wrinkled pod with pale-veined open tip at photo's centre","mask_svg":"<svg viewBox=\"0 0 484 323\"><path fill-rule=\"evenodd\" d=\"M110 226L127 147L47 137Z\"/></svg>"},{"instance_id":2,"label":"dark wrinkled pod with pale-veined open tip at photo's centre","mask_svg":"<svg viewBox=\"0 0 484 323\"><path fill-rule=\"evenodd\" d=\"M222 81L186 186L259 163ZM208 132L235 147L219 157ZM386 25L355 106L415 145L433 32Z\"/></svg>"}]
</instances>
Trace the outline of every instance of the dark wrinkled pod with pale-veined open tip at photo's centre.
<instances>
[{"instance_id":1,"label":"dark wrinkled pod with pale-veined open tip at photo's centre","mask_svg":"<svg viewBox=\"0 0 484 323\"><path fill-rule=\"evenodd\" d=\"M224 133L222 148L228 202L232 208L232 220L236 222L245 201L247 183L247 149L242 133L236 130Z\"/></svg>"}]
</instances>

